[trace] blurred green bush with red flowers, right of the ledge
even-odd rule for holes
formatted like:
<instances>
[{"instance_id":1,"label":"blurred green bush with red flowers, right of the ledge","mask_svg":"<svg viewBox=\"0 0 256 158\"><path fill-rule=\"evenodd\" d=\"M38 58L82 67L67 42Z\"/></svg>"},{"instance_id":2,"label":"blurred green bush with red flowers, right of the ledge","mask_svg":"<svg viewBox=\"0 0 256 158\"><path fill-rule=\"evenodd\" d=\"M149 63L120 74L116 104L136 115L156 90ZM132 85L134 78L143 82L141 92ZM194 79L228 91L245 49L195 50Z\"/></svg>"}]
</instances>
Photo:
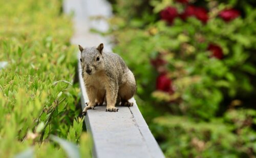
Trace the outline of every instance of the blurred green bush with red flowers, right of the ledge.
<instances>
[{"instance_id":1,"label":"blurred green bush with red flowers, right of the ledge","mask_svg":"<svg viewBox=\"0 0 256 158\"><path fill-rule=\"evenodd\" d=\"M253 157L253 1L110 1L114 52L167 157Z\"/></svg>"}]
</instances>

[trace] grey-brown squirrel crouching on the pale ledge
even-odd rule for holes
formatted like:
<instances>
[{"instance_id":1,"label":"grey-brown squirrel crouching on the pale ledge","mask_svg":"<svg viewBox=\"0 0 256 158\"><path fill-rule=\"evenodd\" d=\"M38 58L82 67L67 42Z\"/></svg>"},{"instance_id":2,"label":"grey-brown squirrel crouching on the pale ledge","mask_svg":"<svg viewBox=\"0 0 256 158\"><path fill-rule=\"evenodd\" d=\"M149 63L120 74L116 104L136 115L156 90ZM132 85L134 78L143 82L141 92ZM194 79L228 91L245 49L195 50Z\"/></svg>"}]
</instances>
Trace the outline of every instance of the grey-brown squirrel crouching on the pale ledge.
<instances>
[{"instance_id":1,"label":"grey-brown squirrel crouching on the pale ledge","mask_svg":"<svg viewBox=\"0 0 256 158\"><path fill-rule=\"evenodd\" d=\"M106 111L118 111L115 105L133 106L131 99L136 92L136 81L123 59L115 53L103 52L103 43L98 47L83 48L81 51L82 78L89 98L88 109L94 109L105 101Z\"/></svg>"}]
</instances>

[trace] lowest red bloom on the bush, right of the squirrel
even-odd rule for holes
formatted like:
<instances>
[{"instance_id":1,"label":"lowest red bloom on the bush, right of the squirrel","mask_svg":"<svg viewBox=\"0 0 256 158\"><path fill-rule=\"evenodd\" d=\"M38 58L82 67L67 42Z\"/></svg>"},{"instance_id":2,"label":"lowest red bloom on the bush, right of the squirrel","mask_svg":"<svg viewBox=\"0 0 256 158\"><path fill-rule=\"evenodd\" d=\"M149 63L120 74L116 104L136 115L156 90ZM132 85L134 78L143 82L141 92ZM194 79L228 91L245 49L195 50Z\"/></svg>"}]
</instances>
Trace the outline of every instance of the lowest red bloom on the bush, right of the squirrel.
<instances>
[{"instance_id":1,"label":"lowest red bloom on the bush, right of the squirrel","mask_svg":"<svg viewBox=\"0 0 256 158\"><path fill-rule=\"evenodd\" d=\"M157 90L168 92L172 94L173 88L172 88L172 80L167 77L166 73L162 73L157 77Z\"/></svg>"}]
</instances>

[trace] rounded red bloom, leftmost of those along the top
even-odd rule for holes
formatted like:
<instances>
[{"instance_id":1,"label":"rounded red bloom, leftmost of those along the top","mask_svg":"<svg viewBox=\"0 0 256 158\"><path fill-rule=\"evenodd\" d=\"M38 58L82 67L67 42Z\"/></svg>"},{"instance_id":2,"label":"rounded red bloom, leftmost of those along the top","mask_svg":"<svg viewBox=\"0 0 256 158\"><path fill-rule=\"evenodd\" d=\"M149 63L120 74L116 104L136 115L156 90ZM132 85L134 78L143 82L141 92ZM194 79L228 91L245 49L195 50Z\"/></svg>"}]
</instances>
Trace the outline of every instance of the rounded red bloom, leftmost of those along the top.
<instances>
[{"instance_id":1,"label":"rounded red bloom, leftmost of those along the top","mask_svg":"<svg viewBox=\"0 0 256 158\"><path fill-rule=\"evenodd\" d=\"M167 21L169 24L172 24L175 17L178 16L178 12L174 7L167 7L160 12L160 16L161 19Z\"/></svg>"}]
</instances>

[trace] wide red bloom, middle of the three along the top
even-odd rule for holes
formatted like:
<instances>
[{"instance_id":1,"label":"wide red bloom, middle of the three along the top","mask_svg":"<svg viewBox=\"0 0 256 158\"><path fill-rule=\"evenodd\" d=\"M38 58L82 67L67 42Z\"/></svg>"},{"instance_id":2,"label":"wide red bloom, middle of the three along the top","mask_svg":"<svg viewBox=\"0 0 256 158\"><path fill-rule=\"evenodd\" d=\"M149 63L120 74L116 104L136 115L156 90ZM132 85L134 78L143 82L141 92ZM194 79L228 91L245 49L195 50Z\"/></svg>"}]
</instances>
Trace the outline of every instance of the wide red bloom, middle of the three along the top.
<instances>
[{"instance_id":1,"label":"wide red bloom, middle of the three along the top","mask_svg":"<svg viewBox=\"0 0 256 158\"><path fill-rule=\"evenodd\" d=\"M206 9L202 7L195 7L195 6L187 6L184 12L180 15L180 17L185 20L189 16L195 16L197 19L206 23L208 20L208 14Z\"/></svg>"}]
</instances>

